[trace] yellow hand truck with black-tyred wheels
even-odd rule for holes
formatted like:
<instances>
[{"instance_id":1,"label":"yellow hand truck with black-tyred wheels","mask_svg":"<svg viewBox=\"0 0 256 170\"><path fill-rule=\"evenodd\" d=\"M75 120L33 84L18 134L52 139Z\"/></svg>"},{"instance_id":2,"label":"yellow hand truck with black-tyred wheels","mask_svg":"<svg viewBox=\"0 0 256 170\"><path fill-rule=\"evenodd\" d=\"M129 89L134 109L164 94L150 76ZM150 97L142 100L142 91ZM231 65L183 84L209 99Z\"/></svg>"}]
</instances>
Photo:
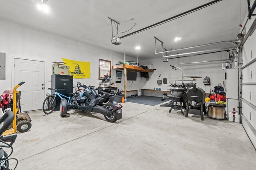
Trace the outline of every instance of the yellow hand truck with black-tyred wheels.
<instances>
[{"instance_id":1,"label":"yellow hand truck with black-tyred wheels","mask_svg":"<svg viewBox=\"0 0 256 170\"><path fill-rule=\"evenodd\" d=\"M12 125L10 129L6 130L3 133L5 135L11 135L13 133L17 133L18 131L23 133L28 131L32 124L31 119L27 112L20 113L20 92L17 90L22 84L25 82L20 82L13 88L13 106L12 112L14 113L14 120L12 121ZM18 106L17 106L18 105Z\"/></svg>"}]
</instances>

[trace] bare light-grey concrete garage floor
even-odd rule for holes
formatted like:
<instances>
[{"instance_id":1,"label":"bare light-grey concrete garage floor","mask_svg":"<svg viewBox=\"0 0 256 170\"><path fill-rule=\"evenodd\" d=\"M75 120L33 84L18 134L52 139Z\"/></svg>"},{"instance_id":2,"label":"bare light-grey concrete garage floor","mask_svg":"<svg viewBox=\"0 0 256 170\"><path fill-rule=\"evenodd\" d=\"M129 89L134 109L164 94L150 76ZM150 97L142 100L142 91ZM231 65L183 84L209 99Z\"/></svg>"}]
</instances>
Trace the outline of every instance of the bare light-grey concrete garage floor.
<instances>
[{"instance_id":1,"label":"bare light-grey concrete garage floor","mask_svg":"<svg viewBox=\"0 0 256 170\"><path fill-rule=\"evenodd\" d=\"M123 104L123 118L98 113L31 112L32 128L19 133L17 170L254 170L256 152L241 124L168 107Z\"/></svg>"}]
</instances>

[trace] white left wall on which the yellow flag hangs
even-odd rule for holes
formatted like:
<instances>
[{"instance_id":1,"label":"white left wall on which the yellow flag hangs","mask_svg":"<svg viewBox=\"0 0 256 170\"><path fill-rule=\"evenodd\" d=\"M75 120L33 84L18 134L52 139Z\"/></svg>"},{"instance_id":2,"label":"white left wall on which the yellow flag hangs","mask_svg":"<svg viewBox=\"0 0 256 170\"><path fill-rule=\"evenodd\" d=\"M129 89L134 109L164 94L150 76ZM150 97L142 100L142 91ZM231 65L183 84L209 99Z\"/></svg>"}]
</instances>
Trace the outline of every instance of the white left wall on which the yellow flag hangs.
<instances>
[{"instance_id":1,"label":"white left wall on which the yellow flag hangs","mask_svg":"<svg viewBox=\"0 0 256 170\"><path fill-rule=\"evenodd\" d=\"M61 61L61 58L77 61L90 62L91 78L74 79L74 84L80 81L82 84L98 86L98 59L109 60L113 64L123 60L122 54L114 53L105 49L84 44L66 37L20 25L7 20L0 19L0 52L6 53L6 80L0 80L0 94L4 90L11 90L12 86L12 57L46 61L47 86L51 86L52 61ZM126 56L126 60L135 60ZM116 80L116 70L112 70L112 78ZM128 82L127 90L141 88L140 81ZM122 83L118 88L124 89L124 71Z\"/></svg>"}]
</instances>

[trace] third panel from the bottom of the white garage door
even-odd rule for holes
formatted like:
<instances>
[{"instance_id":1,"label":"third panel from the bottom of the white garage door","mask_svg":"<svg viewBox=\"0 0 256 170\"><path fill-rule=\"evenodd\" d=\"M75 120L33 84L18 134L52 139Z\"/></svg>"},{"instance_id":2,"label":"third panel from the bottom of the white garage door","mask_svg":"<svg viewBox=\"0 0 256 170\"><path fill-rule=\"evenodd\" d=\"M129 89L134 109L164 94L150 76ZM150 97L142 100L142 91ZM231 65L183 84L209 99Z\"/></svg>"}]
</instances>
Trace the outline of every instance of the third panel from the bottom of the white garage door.
<instances>
[{"instance_id":1,"label":"third panel from the bottom of the white garage door","mask_svg":"<svg viewBox=\"0 0 256 170\"><path fill-rule=\"evenodd\" d=\"M242 85L242 98L252 104L256 104L256 86Z\"/></svg>"}]
</instances>

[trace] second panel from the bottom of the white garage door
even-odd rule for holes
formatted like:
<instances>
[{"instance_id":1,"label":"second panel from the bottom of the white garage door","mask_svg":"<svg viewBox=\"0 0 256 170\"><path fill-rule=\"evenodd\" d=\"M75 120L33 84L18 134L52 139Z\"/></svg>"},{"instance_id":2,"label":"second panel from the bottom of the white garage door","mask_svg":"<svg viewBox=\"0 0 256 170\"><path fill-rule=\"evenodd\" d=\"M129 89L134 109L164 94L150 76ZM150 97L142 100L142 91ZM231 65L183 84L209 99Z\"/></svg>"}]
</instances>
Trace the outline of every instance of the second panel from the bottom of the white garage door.
<instances>
[{"instance_id":1,"label":"second panel from the bottom of the white garage door","mask_svg":"<svg viewBox=\"0 0 256 170\"><path fill-rule=\"evenodd\" d=\"M256 111L251 106L246 104L244 101L242 101L242 113L250 122L252 127L256 129Z\"/></svg>"}]
</instances>

